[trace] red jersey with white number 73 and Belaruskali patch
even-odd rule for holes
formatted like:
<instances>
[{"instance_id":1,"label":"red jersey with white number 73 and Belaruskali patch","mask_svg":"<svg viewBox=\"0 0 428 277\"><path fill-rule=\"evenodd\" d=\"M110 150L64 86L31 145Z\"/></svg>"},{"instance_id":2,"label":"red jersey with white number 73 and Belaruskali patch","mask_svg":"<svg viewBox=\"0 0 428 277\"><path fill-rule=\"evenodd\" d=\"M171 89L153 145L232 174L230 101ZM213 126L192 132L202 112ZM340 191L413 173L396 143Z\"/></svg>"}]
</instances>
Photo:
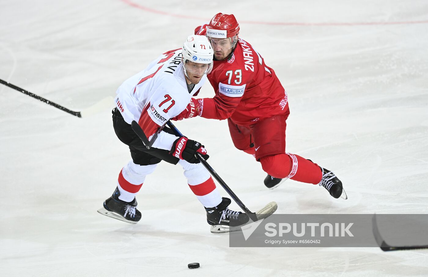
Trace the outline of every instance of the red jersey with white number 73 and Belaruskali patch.
<instances>
[{"instance_id":1,"label":"red jersey with white number 73 and Belaruskali patch","mask_svg":"<svg viewBox=\"0 0 428 277\"><path fill-rule=\"evenodd\" d=\"M246 41L239 39L229 60L214 60L208 80L216 95L203 98L202 117L232 119L251 125L274 115L288 115L287 93L275 72Z\"/></svg>"}]
</instances>

